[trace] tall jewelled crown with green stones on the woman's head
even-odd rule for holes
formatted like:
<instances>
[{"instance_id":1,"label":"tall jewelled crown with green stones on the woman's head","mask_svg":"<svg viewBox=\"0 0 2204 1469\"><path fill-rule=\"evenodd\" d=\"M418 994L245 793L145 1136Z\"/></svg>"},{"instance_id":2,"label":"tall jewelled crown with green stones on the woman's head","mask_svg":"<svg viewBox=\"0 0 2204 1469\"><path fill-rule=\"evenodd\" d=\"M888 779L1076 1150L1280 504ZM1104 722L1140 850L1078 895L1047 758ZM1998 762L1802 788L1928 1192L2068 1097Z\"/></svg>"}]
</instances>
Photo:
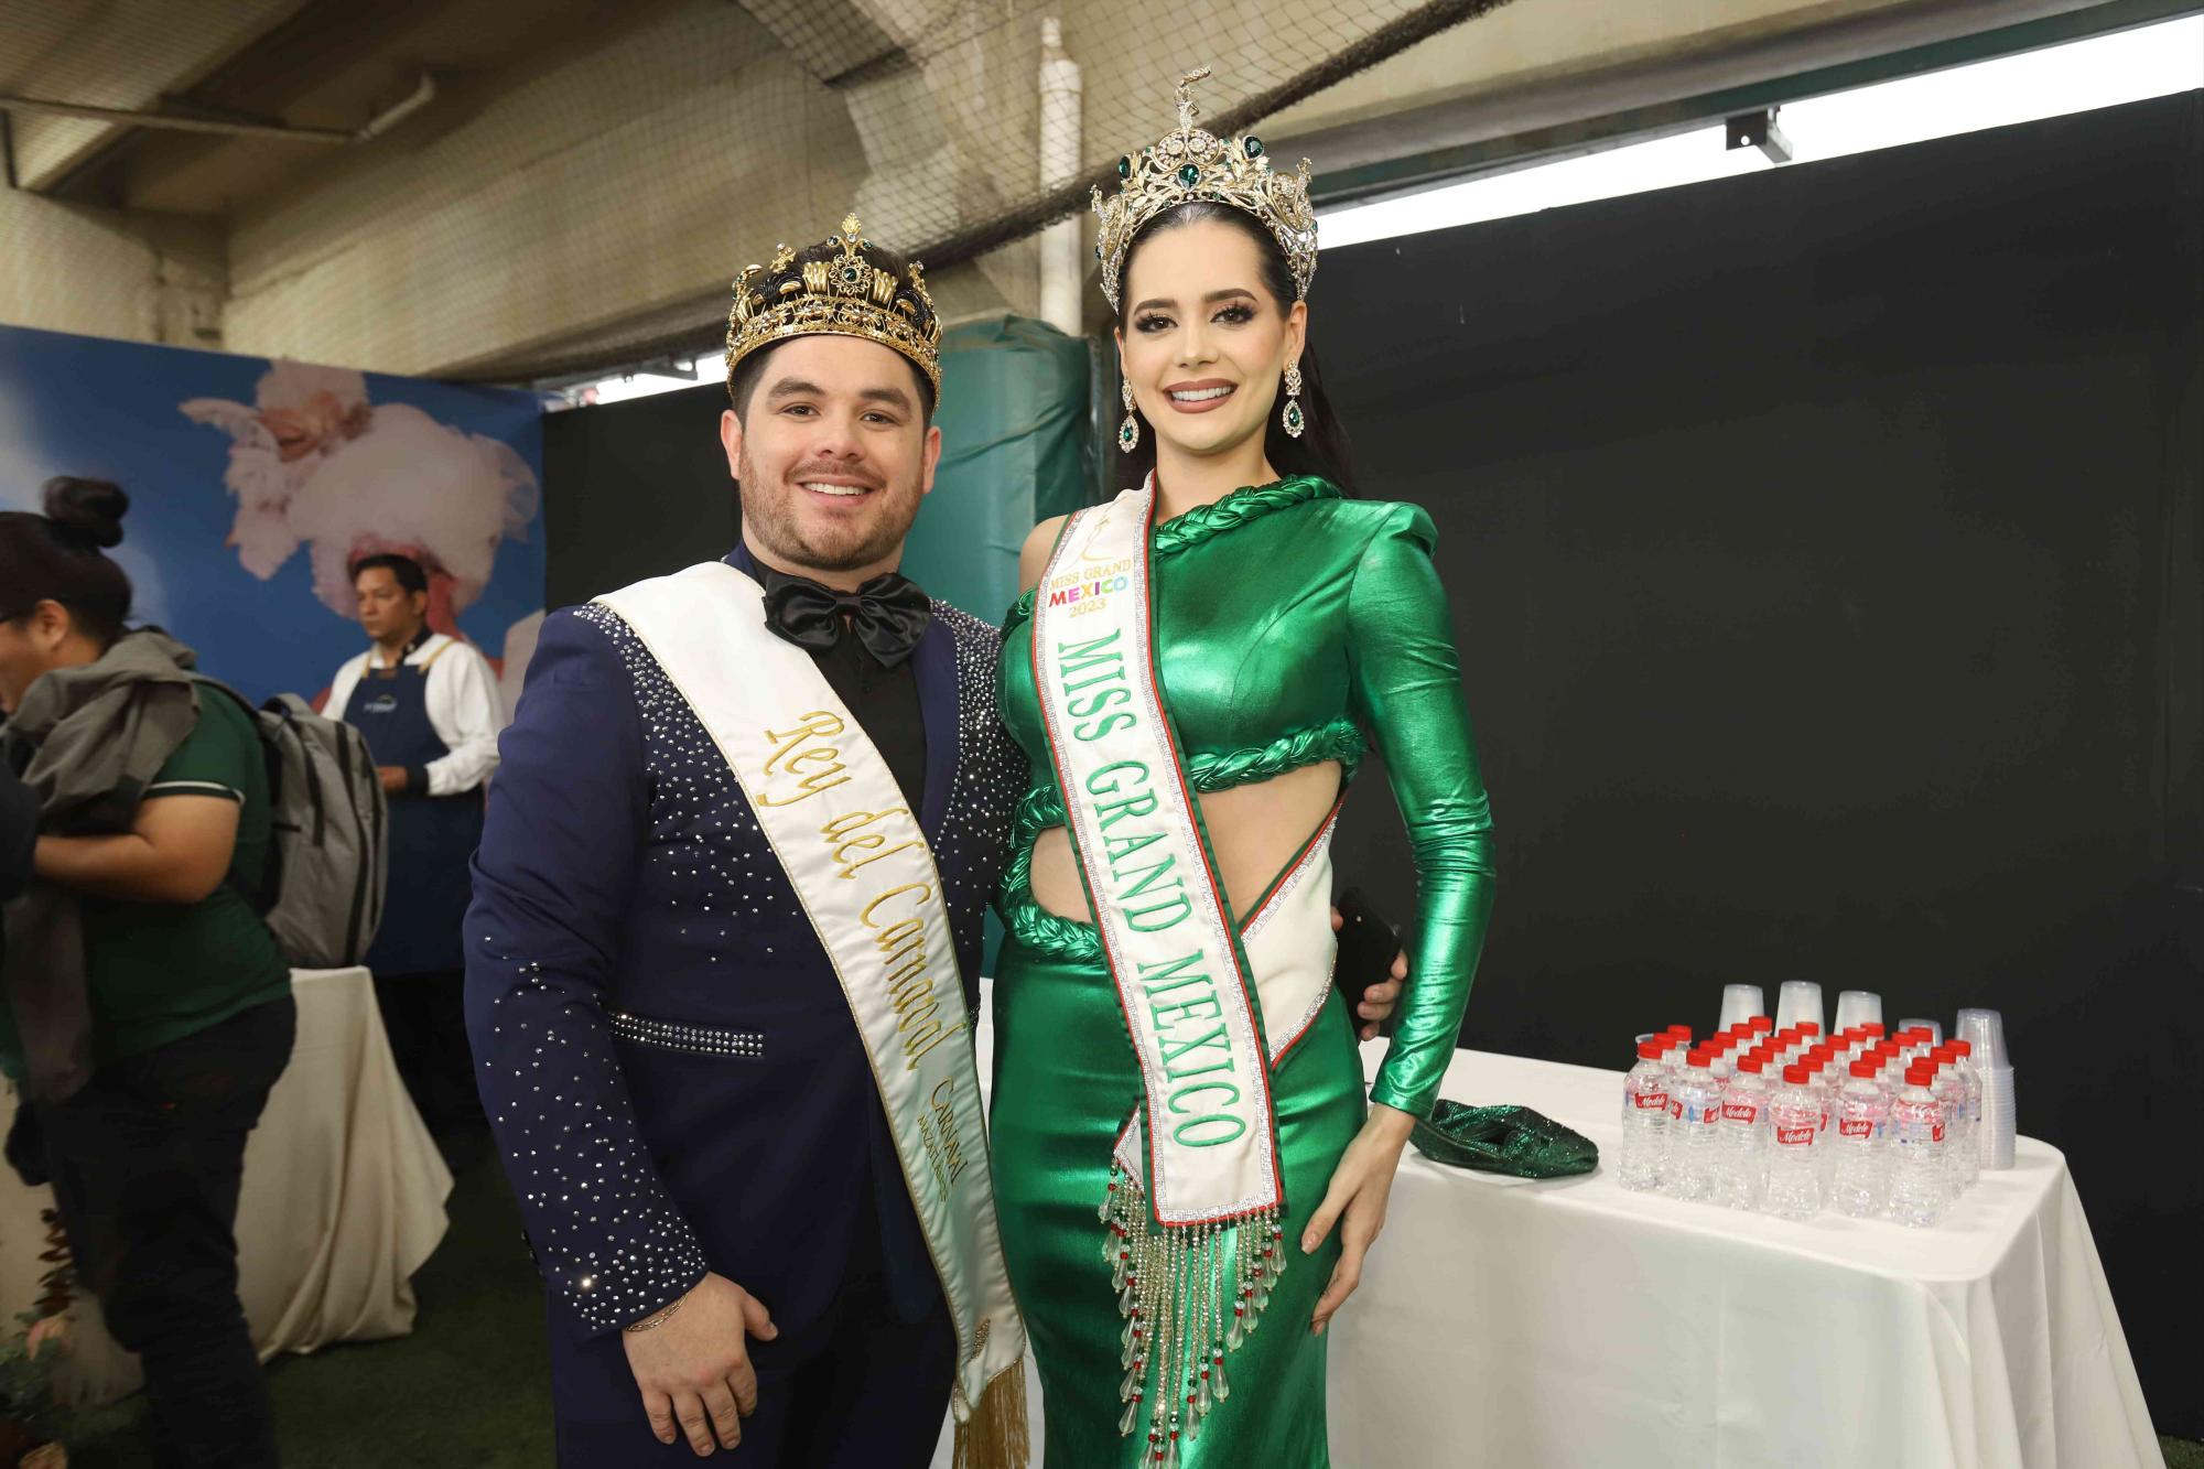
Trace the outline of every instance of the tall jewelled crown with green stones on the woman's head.
<instances>
[{"instance_id":1,"label":"tall jewelled crown with green stones on the woman's head","mask_svg":"<svg viewBox=\"0 0 2204 1469\"><path fill-rule=\"evenodd\" d=\"M1309 280L1316 276L1316 210L1309 207L1309 161L1300 170L1278 174L1270 168L1263 139L1221 139L1195 126L1195 82L1210 75L1199 66L1179 77L1179 130L1166 132L1153 148L1142 148L1139 157L1117 159L1117 196L1104 201L1102 190L1093 192L1095 214L1102 216L1102 238L1095 258L1102 260L1102 293L1109 296L1111 311L1117 309L1117 274L1124 269L1124 254L1133 236L1157 214L1175 210L1195 199L1245 210L1263 221L1285 262L1294 271L1294 293L1309 296Z\"/></svg>"}]
</instances>

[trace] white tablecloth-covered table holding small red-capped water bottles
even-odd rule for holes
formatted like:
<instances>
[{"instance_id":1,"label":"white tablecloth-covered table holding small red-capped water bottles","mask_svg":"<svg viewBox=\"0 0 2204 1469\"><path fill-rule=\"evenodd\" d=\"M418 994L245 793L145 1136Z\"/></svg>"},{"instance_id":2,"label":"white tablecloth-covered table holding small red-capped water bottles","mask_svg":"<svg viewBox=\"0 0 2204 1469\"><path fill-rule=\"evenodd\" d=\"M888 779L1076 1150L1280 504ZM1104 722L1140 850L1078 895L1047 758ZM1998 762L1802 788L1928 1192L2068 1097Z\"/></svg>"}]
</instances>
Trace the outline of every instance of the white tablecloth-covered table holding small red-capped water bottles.
<instances>
[{"instance_id":1,"label":"white tablecloth-covered table holding small red-capped water bottles","mask_svg":"<svg viewBox=\"0 0 2204 1469\"><path fill-rule=\"evenodd\" d=\"M1466 1050L1444 1094L1620 1147L1620 1072ZM1411 1145L1331 1326L1329 1403L1338 1469L2164 1467L2065 1158L2030 1138L1933 1231Z\"/></svg>"}]
</instances>

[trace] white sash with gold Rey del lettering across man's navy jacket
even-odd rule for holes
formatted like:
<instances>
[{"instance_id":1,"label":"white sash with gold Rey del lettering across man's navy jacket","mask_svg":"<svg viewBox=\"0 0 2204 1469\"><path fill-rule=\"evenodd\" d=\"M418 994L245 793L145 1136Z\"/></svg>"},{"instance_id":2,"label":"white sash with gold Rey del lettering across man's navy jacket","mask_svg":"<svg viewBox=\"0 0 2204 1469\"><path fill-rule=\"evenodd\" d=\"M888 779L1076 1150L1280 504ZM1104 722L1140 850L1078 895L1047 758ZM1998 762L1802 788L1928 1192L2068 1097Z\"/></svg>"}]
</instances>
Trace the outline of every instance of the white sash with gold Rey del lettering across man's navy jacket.
<instances>
[{"instance_id":1,"label":"white sash with gold Rey del lettering across man's navy jacket","mask_svg":"<svg viewBox=\"0 0 2204 1469\"><path fill-rule=\"evenodd\" d=\"M957 1465L1025 1465L1025 1321L1003 1270L941 876L879 750L811 655L765 626L763 598L705 562L597 600L719 746L842 982L957 1323Z\"/></svg>"}]
</instances>

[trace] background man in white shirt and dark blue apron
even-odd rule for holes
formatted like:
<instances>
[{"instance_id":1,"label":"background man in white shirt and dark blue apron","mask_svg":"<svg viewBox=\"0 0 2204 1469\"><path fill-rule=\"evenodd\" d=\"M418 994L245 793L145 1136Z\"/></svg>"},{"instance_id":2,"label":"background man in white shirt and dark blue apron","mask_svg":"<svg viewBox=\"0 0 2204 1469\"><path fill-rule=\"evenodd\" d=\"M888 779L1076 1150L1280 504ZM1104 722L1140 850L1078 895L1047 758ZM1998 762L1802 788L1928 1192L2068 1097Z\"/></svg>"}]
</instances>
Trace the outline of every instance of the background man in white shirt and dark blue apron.
<instances>
[{"instance_id":1,"label":"background man in white shirt and dark blue apron","mask_svg":"<svg viewBox=\"0 0 2204 1469\"><path fill-rule=\"evenodd\" d=\"M364 556L353 589L372 644L337 668L324 712L366 735L390 796L390 884L366 964L406 1087L450 1145L480 1120L458 926L483 840L483 781L498 768L498 682L469 644L428 626L428 573L414 558Z\"/></svg>"}]
</instances>

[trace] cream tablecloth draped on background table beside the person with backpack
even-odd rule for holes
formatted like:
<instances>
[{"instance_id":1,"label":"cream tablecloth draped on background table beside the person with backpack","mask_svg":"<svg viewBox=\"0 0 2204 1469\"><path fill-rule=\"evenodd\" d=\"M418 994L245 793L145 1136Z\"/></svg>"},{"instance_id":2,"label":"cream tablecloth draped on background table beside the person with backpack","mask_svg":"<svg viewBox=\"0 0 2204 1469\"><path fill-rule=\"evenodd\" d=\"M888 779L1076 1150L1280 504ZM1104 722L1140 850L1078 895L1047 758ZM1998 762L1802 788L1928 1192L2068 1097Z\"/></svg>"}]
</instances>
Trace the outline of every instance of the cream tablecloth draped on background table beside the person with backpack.
<instances>
[{"instance_id":1,"label":"cream tablecloth draped on background table beside the person with backpack","mask_svg":"<svg viewBox=\"0 0 2204 1469\"><path fill-rule=\"evenodd\" d=\"M298 1043L245 1145L238 1295L260 1359L412 1330L412 1275L445 1231L452 1173L406 1096L364 968L295 971ZM0 1096L0 1129L15 1116ZM37 1299L40 1211L51 1189L0 1169L0 1310ZM82 1290L71 1306L62 1392L104 1403L132 1392L123 1352Z\"/></svg>"}]
</instances>

